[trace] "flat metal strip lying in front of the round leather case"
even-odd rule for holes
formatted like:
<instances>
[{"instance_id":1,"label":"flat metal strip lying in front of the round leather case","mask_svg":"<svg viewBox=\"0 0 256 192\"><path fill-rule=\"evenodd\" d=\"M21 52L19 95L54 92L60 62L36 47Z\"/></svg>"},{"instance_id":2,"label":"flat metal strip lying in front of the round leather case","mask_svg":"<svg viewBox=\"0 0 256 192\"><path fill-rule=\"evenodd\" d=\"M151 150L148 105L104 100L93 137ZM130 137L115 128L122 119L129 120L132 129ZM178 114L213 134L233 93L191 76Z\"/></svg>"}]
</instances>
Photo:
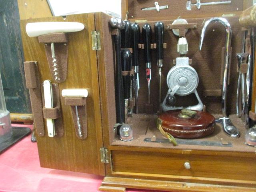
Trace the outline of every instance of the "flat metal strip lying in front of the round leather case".
<instances>
[{"instance_id":1,"label":"flat metal strip lying in front of the round leather case","mask_svg":"<svg viewBox=\"0 0 256 192\"><path fill-rule=\"evenodd\" d=\"M215 146L215 147L232 147L232 143L222 144L219 141L200 141L200 140L188 140L188 139L177 139L178 145L201 145L201 146ZM169 143L172 144L168 139L156 139L156 141L151 141L151 138L145 138L144 142L152 143Z\"/></svg>"}]
</instances>

